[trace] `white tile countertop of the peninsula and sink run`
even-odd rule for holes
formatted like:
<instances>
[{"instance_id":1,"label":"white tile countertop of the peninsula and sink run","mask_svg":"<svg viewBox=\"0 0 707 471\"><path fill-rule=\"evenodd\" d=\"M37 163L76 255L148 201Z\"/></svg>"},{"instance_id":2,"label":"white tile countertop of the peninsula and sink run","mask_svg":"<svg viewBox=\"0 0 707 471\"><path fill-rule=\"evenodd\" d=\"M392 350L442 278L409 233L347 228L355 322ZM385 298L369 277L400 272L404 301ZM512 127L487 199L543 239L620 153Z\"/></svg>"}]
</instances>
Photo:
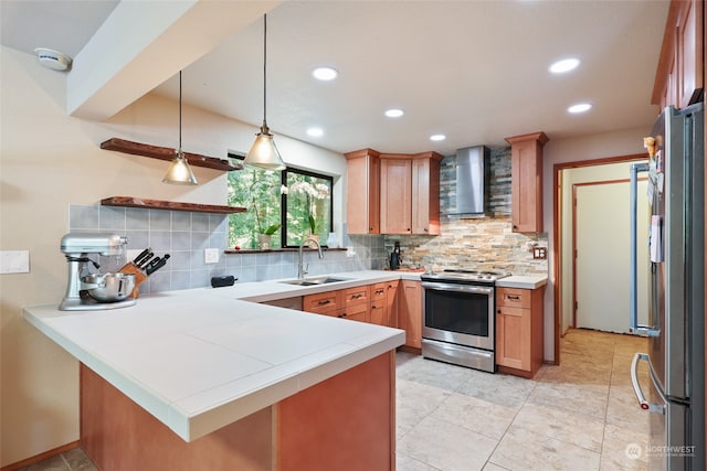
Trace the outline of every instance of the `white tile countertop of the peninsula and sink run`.
<instances>
[{"instance_id":1,"label":"white tile countertop of the peninsula and sink run","mask_svg":"<svg viewBox=\"0 0 707 471\"><path fill-rule=\"evenodd\" d=\"M78 361L192 441L404 343L363 322L250 300L274 300L400 279L390 271L298 287L236 283L141 296L98 311L27 307L24 318Z\"/></svg>"}]
</instances>

